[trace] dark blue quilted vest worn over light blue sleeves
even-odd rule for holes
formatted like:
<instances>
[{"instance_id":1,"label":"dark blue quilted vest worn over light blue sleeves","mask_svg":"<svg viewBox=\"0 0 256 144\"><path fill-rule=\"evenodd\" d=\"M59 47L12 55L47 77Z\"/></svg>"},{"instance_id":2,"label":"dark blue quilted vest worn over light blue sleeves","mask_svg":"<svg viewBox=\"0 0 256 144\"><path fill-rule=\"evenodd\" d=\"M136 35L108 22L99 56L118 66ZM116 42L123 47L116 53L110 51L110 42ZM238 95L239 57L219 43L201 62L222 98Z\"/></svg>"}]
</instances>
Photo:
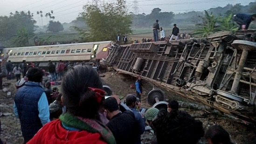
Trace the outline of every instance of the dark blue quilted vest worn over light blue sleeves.
<instances>
[{"instance_id":1,"label":"dark blue quilted vest worn over light blue sleeves","mask_svg":"<svg viewBox=\"0 0 256 144\"><path fill-rule=\"evenodd\" d=\"M38 101L43 92L44 89L39 83L26 82L15 95L14 102L21 121L21 132L26 142L42 128L38 117Z\"/></svg>"}]
</instances>

